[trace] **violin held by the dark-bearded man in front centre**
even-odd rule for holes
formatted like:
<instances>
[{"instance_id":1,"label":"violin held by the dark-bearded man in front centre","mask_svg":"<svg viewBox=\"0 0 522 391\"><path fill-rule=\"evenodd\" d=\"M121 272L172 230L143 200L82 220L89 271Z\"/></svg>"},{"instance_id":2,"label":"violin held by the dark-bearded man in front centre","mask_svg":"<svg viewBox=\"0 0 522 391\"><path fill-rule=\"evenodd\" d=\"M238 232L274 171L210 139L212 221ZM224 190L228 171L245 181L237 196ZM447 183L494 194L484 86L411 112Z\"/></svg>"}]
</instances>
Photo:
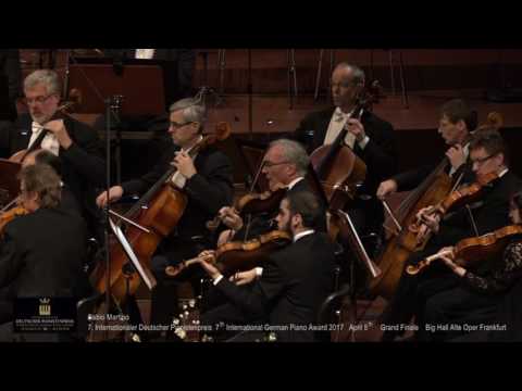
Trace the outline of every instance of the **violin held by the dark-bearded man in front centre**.
<instances>
[{"instance_id":1,"label":"violin held by the dark-bearded man in front centre","mask_svg":"<svg viewBox=\"0 0 522 391\"><path fill-rule=\"evenodd\" d=\"M291 242L288 232L273 230L248 241L233 241L222 244L215 253L196 256L182 262L176 266L167 266L165 274L175 277L190 265L204 260L212 261L224 276L231 276L237 272L250 270L260 265L272 252L279 250Z\"/></svg>"}]
</instances>

